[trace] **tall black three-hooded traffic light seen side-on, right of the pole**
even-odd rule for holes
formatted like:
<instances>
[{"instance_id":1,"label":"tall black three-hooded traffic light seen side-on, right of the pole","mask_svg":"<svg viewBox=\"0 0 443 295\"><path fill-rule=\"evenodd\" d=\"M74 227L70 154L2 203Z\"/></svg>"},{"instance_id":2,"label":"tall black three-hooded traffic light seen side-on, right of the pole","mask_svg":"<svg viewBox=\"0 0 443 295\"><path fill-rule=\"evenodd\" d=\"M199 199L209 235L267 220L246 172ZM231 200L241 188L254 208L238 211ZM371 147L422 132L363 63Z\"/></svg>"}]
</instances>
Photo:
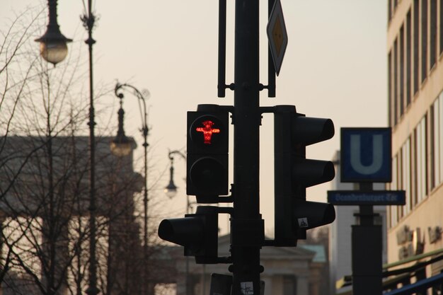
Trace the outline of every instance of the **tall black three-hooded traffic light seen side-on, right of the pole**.
<instances>
[{"instance_id":1,"label":"tall black three-hooded traffic light seen side-on, right of the pole","mask_svg":"<svg viewBox=\"0 0 443 295\"><path fill-rule=\"evenodd\" d=\"M305 117L294 105L277 105L274 112L275 245L294 246L306 230L330 224L333 205L306 201L306 187L333 180L330 161L306 159L306 146L334 135L330 119Z\"/></svg>"}]
</instances>

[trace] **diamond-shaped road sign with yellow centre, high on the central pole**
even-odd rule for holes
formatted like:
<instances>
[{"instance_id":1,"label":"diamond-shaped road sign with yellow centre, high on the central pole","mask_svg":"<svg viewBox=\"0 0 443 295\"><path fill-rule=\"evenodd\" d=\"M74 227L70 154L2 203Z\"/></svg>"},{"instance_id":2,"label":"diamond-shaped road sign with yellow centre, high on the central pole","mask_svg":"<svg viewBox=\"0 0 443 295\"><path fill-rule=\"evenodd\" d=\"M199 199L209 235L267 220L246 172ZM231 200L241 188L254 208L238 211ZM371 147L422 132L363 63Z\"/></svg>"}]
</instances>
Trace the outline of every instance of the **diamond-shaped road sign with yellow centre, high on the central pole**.
<instances>
[{"instance_id":1,"label":"diamond-shaped road sign with yellow centre, high on the central pole","mask_svg":"<svg viewBox=\"0 0 443 295\"><path fill-rule=\"evenodd\" d=\"M274 7L272 7L266 33L267 40L269 40L272 60L274 61L275 74L278 76L280 68L282 67L284 52L287 47L286 26L284 25L282 4L280 4L280 0L275 0Z\"/></svg>"}]
</instances>

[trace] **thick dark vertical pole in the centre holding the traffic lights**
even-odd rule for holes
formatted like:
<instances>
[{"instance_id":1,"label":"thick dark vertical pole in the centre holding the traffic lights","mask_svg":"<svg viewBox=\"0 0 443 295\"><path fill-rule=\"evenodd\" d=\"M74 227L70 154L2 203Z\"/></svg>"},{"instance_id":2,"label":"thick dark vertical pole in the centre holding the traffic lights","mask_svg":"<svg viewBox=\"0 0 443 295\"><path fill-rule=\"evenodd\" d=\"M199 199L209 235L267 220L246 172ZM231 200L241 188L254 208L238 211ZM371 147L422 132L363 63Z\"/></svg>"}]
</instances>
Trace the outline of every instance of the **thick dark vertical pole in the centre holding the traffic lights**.
<instances>
[{"instance_id":1,"label":"thick dark vertical pole in the centre holding the traffic lights","mask_svg":"<svg viewBox=\"0 0 443 295\"><path fill-rule=\"evenodd\" d=\"M259 1L236 0L234 57L233 295L260 294Z\"/></svg>"}]
</instances>

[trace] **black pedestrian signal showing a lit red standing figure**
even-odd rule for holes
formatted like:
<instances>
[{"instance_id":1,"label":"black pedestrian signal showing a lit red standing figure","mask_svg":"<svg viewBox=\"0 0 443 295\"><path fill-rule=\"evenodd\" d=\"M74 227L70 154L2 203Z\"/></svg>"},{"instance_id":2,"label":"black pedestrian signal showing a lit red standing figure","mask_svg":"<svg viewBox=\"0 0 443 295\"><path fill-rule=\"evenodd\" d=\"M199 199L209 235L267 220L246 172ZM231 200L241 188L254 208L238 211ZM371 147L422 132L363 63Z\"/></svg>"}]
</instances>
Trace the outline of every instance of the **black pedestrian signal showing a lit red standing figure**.
<instances>
[{"instance_id":1,"label":"black pedestrian signal showing a lit red standing figure","mask_svg":"<svg viewBox=\"0 0 443 295\"><path fill-rule=\"evenodd\" d=\"M197 112L188 112L188 195L228 194L228 118L219 105L198 105Z\"/></svg>"}]
</instances>

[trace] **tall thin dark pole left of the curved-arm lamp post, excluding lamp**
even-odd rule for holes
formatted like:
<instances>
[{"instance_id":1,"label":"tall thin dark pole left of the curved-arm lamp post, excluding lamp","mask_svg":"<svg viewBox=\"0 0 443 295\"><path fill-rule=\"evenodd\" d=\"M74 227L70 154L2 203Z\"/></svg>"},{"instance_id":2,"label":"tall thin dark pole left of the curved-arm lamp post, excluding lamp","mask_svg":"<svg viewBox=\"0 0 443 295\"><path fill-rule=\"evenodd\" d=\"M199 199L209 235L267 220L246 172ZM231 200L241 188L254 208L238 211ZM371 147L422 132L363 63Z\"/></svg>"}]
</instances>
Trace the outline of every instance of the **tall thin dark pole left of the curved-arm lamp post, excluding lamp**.
<instances>
[{"instance_id":1,"label":"tall thin dark pole left of the curved-arm lamp post, excluding lamp","mask_svg":"<svg viewBox=\"0 0 443 295\"><path fill-rule=\"evenodd\" d=\"M91 0L88 1L87 15L82 16L85 28L88 30L88 39L85 41L89 49L89 153L90 153L90 173L89 173L89 228L91 231L89 241L89 287L86 289L88 295L98 294L97 288L97 260L96 260L96 138L94 135L94 102L93 102L93 55L94 43L92 30L95 16L91 13Z\"/></svg>"}]
</instances>

